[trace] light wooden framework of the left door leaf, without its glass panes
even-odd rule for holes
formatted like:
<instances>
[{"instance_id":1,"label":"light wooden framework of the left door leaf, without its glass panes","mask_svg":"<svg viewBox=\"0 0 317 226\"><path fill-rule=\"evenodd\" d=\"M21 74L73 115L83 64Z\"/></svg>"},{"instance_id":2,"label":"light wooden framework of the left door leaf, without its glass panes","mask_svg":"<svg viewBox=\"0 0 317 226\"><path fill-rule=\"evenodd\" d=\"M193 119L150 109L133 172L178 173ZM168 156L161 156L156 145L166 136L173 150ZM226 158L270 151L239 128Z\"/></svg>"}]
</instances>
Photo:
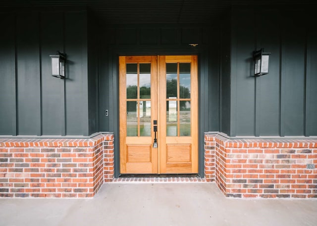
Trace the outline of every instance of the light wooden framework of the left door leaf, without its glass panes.
<instances>
[{"instance_id":1,"label":"light wooden framework of the left door leaf, without its glass panes","mask_svg":"<svg viewBox=\"0 0 317 226\"><path fill-rule=\"evenodd\" d=\"M156 56L120 56L119 57L119 101L120 101L120 173L121 174L157 174L158 173L158 150L153 148L154 132L153 120L157 120L157 57ZM141 98L141 72L140 64L151 63L151 95ZM137 81L137 96L127 98L127 64L137 65L137 72L135 74ZM134 88L133 88L134 89ZM147 101L150 103L150 127L149 135L141 134L141 117L143 111L141 110L141 103ZM136 121L132 127L137 133L132 136L128 134L127 130L127 102L134 104ZM134 102L134 103L133 103ZM143 108L142 108L143 109ZM131 125L130 125L131 128ZM151 131L150 131L151 130Z\"/></svg>"}]
</instances>

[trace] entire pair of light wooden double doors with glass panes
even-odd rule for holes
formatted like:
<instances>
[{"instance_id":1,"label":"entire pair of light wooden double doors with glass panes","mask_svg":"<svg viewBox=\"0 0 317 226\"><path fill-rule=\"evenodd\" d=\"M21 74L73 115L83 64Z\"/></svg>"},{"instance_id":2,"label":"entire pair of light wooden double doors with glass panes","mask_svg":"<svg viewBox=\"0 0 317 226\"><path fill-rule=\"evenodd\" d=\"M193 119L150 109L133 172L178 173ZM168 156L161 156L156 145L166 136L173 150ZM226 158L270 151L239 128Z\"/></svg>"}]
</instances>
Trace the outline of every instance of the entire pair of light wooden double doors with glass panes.
<instances>
[{"instance_id":1,"label":"entire pair of light wooden double doors with glass panes","mask_svg":"<svg viewBox=\"0 0 317 226\"><path fill-rule=\"evenodd\" d=\"M198 173L197 56L120 56L120 173Z\"/></svg>"}]
</instances>

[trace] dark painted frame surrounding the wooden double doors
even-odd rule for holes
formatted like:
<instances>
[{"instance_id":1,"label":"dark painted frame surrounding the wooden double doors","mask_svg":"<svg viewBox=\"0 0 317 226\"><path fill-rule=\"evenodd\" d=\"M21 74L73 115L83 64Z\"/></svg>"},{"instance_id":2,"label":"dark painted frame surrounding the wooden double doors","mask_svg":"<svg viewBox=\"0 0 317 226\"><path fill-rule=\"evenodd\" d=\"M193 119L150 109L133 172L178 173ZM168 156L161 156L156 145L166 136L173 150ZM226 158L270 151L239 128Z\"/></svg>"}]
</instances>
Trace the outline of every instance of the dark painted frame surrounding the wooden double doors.
<instances>
[{"instance_id":1,"label":"dark painted frame surrounding the wooden double doors","mask_svg":"<svg viewBox=\"0 0 317 226\"><path fill-rule=\"evenodd\" d=\"M124 46L110 47L108 50L108 96L109 96L109 131L114 135L114 178L120 176L120 131L119 131L119 56L152 56L152 55L197 55L198 56L198 176L205 177L205 149L204 136L209 131L208 120L208 93L209 72L208 72L208 48L201 46L198 48L188 48L188 46L173 48L135 48L127 49ZM102 88L101 88L102 89ZM101 110L101 116L104 109Z\"/></svg>"}]
</instances>

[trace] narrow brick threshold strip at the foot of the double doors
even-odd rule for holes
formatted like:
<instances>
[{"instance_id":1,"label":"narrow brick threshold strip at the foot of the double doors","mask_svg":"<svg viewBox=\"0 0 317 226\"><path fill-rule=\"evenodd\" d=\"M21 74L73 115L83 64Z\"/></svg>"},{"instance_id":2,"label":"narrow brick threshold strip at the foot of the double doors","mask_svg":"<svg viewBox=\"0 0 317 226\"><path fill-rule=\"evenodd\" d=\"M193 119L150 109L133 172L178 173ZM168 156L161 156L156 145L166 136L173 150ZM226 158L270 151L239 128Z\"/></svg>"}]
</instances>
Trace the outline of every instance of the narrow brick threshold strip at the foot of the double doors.
<instances>
[{"instance_id":1,"label":"narrow brick threshold strip at the foot of the double doors","mask_svg":"<svg viewBox=\"0 0 317 226\"><path fill-rule=\"evenodd\" d=\"M125 174L119 178L114 178L112 182L131 182L131 183L163 183L163 182L207 182L205 178L200 178L198 174Z\"/></svg>"}]
</instances>

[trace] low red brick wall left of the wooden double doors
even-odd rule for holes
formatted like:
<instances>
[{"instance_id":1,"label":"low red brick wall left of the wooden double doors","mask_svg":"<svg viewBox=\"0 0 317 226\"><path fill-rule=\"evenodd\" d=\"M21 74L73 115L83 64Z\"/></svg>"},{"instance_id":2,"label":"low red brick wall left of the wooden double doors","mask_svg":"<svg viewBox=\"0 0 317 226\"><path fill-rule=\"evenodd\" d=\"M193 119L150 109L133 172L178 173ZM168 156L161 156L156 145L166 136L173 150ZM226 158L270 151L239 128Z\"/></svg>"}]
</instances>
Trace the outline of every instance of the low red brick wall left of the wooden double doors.
<instances>
[{"instance_id":1,"label":"low red brick wall left of the wooden double doors","mask_svg":"<svg viewBox=\"0 0 317 226\"><path fill-rule=\"evenodd\" d=\"M0 197L93 197L113 178L113 135L0 139Z\"/></svg>"}]
</instances>

